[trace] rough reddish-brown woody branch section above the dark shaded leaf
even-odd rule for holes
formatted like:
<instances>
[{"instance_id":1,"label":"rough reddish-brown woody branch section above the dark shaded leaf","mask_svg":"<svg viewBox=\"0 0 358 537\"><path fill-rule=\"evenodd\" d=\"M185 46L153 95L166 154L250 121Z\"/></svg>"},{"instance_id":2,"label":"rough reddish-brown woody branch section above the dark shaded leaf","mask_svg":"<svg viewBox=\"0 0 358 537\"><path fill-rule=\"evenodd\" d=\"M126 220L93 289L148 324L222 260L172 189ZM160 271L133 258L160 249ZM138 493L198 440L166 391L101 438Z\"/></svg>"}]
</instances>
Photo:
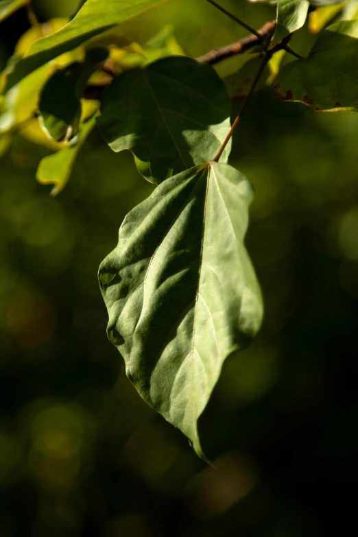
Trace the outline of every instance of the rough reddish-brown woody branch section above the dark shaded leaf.
<instances>
[{"instance_id":1,"label":"rough reddish-brown woody branch section above the dark shaded leaf","mask_svg":"<svg viewBox=\"0 0 358 537\"><path fill-rule=\"evenodd\" d=\"M256 32L260 35L260 38L258 38L256 34L251 34L250 36L246 36L238 41L235 41L235 43L231 43L230 45L226 45L220 49L214 49L204 54L204 56L196 58L196 60L199 63L208 63L213 65L217 62L221 62L222 60L226 60L226 58L231 58L231 56L235 56L236 54L242 54L253 47L260 45L261 41L265 40L265 38L270 38L274 34L275 27L276 20L271 21L270 23L265 23L263 27Z\"/></svg>"}]
</instances>

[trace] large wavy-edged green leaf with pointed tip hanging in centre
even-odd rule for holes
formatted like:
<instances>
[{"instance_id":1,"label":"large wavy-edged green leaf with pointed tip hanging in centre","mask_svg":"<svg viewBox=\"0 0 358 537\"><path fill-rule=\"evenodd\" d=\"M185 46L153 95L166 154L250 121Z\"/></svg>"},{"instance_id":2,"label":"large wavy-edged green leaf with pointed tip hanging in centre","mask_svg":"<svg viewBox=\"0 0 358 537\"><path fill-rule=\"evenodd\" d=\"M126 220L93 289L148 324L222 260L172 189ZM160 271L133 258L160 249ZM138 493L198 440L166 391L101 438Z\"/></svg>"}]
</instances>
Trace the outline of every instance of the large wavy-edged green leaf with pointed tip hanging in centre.
<instances>
[{"instance_id":1,"label":"large wavy-edged green leaf with pointed tip hanging in centre","mask_svg":"<svg viewBox=\"0 0 358 537\"><path fill-rule=\"evenodd\" d=\"M263 315L243 244L251 200L250 182L228 165L184 171L126 216L99 267L108 337L128 378L204 459L198 418Z\"/></svg>"}]
</instances>

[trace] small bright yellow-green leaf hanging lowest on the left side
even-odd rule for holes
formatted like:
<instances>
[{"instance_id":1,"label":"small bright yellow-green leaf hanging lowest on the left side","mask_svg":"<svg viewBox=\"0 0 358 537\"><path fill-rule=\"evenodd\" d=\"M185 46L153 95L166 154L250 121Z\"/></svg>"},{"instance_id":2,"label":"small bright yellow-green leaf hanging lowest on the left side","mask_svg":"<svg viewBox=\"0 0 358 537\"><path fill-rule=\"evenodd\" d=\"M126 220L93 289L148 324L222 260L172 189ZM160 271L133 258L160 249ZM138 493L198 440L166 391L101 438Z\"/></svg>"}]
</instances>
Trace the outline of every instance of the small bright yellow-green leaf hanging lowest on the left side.
<instances>
[{"instance_id":1,"label":"small bright yellow-green leaf hanging lowest on the left side","mask_svg":"<svg viewBox=\"0 0 358 537\"><path fill-rule=\"evenodd\" d=\"M75 145L70 145L57 153L45 156L41 160L36 172L36 179L41 184L54 185L51 195L57 195L66 186L77 154L94 127L95 116L84 121Z\"/></svg>"}]
</instances>

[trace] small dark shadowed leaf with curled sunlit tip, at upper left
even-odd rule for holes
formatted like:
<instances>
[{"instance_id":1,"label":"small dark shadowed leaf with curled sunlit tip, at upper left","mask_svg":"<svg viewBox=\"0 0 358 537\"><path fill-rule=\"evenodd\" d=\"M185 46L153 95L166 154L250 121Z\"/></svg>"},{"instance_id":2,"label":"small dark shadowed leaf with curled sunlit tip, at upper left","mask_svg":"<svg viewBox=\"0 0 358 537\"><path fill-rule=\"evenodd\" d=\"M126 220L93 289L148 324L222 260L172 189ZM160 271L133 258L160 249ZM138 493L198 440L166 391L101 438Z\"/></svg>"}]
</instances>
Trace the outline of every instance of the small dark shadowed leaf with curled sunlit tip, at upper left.
<instances>
[{"instance_id":1,"label":"small dark shadowed leaf with curled sunlit tip, at upper left","mask_svg":"<svg viewBox=\"0 0 358 537\"><path fill-rule=\"evenodd\" d=\"M77 134L82 114L80 99L87 80L107 56L106 49L92 49L83 63L73 63L49 78L39 104L40 125L49 138L70 141Z\"/></svg>"}]
</instances>

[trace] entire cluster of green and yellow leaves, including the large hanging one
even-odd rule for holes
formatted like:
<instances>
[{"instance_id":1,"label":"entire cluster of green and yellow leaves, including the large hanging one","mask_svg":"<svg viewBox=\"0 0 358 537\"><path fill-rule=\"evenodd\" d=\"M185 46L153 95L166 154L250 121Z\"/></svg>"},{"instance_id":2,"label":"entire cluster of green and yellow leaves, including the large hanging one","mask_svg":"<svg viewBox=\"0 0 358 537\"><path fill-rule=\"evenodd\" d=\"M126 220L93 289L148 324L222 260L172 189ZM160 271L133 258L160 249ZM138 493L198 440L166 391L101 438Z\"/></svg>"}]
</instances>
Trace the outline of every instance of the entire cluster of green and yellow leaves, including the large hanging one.
<instances>
[{"instance_id":1,"label":"entire cluster of green and yellow leaves, including the large hanging one","mask_svg":"<svg viewBox=\"0 0 358 537\"><path fill-rule=\"evenodd\" d=\"M269 0L273 34L226 80L184 56L170 28L142 45L121 36L119 23L160 1L86 0L71 21L35 23L1 74L0 152L15 131L54 150L37 178L56 194L97 125L158 185L128 214L99 269L108 336L141 396L205 458L198 418L224 360L263 317L243 243L252 189L228 165L229 97L249 95L270 58L256 88L274 84L278 97L316 110L356 110L358 1ZM0 20L28 3L0 1ZM317 41L307 58L287 61L307 16Z\"/></svg>"}]
</instances>

